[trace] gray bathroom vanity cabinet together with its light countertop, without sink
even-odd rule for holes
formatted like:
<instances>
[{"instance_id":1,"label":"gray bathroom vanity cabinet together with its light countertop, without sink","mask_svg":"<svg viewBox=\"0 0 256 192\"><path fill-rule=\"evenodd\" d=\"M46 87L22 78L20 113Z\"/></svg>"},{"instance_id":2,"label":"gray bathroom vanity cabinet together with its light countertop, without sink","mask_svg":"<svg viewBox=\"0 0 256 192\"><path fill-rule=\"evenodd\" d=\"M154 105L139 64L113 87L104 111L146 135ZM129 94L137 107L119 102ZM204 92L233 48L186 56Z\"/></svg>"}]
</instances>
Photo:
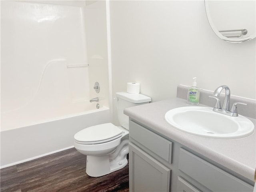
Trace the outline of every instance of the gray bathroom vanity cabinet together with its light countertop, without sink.
<instances>
[{"instance_id":1,"label":"gray bathroom vanity cabinet together with its light countertop, without sink","mask_svg":"<svg viewBox=\"0 0 256 192\"><path fill-rule=\"evenodd\" d=\"M182 106L186 100L174 98L124 110L130 117L130 191L252 192L255 131L233 140L181 132L164 115Z\"/></svg>"}]
</instances>

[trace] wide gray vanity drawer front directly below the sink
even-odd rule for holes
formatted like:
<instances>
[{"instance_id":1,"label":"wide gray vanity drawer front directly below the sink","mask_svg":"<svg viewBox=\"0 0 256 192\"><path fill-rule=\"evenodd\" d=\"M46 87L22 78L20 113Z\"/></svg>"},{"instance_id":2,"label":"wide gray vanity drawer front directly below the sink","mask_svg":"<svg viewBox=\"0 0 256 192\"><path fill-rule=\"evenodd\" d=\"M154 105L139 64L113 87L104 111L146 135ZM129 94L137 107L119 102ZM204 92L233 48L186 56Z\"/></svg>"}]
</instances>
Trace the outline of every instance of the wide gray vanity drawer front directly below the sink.
<instances>
[{"instance_id":1,"label":"wide gray vanity drawer front directly below the sink","mask_svg":"<svg viewBox=\"0 0 256 192\"><path fill-rule=\"evenodd\" d=\"M179 170L214 192L252 192L253 186L180 148Z\"/></svg>"}]
</instances>

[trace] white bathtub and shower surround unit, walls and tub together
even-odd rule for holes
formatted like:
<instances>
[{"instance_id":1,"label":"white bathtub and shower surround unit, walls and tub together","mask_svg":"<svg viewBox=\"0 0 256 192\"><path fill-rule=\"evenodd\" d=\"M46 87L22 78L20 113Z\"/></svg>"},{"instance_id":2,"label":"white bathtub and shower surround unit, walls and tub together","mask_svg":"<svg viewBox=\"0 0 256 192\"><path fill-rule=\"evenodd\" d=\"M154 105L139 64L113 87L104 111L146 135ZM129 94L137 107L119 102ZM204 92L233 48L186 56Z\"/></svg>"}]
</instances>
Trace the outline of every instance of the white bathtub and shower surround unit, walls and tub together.
<instances>
[{"instance_id":1,"label":"white bathtub and shower surround unit, walls and tub together","mask_svg":"<svg viewBox=\"0 0 256 192\"><path fill-rule=\"evenodd\" d=\"M76 132L110 122L106 32L99 30L106 7L98 4L101 17L85 28L96 12L84 4L1 1L1 168L71 148ZM89 102L96 96L100 109Z\"/></svg>"}]
</instances>

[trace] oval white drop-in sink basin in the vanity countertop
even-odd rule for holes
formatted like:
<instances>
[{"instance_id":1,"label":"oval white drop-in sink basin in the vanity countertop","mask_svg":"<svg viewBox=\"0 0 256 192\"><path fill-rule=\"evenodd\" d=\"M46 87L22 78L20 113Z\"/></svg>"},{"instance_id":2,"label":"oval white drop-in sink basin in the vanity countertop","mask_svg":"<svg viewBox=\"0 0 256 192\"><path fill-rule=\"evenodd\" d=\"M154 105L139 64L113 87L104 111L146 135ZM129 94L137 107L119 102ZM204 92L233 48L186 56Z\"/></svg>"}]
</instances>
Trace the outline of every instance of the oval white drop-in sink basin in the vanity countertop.
<instances>
[{"instance_id":1,"label":"oval white drop-in sink basin in the vanity countertop","mask_svg":"<svg viewBox=\"0 0 256 192\"><path fill-rule=\"evenodd\" d=\"M254 132L254 124L248 118L220 114L210 107L175 108L168 111L164 118L182 132L206 138L238 139Z\"/></svg>"}]
</instances>

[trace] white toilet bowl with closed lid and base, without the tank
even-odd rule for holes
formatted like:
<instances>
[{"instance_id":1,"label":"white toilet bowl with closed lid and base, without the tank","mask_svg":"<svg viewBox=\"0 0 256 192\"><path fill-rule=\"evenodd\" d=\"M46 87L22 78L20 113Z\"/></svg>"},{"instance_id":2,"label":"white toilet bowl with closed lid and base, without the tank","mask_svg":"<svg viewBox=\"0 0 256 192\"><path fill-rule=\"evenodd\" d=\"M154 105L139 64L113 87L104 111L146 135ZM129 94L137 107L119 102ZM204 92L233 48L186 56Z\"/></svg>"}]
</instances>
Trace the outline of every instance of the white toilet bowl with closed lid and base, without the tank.
<instances>
[{"instance_id":1,"label":"white toilet bowl with closed lid and base, without the tank","mask_svg":"<svg viewBox=\"0 0 256 192\"><path fill-rule=\"evenodd\" d=\"M99 135L95 136L93 133L90 137L92 130ZM78 152L87 155L86 173L99 177L126 166L126 155L129 152L128 134L128 130L112 123L92 126L76 133L74 147Z\"/></svg>"}]
</instances>

